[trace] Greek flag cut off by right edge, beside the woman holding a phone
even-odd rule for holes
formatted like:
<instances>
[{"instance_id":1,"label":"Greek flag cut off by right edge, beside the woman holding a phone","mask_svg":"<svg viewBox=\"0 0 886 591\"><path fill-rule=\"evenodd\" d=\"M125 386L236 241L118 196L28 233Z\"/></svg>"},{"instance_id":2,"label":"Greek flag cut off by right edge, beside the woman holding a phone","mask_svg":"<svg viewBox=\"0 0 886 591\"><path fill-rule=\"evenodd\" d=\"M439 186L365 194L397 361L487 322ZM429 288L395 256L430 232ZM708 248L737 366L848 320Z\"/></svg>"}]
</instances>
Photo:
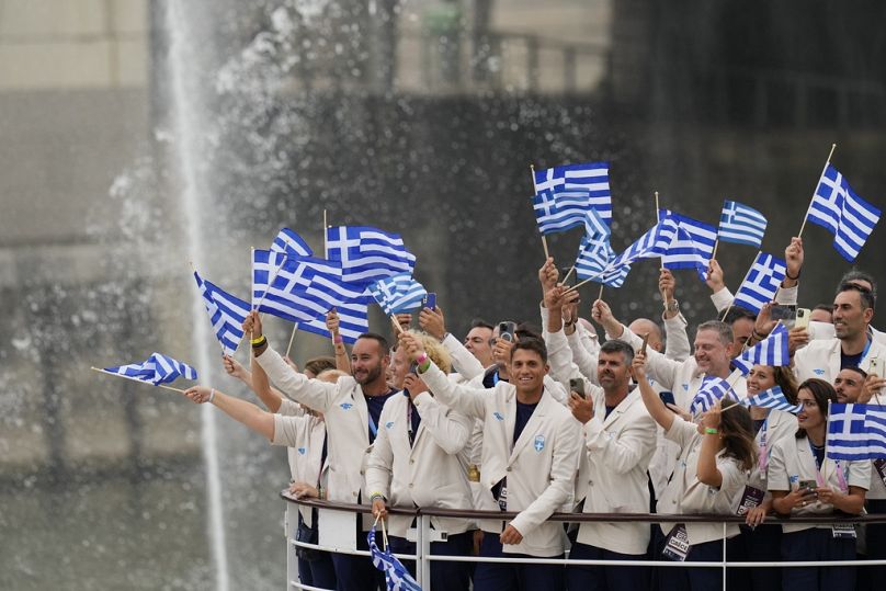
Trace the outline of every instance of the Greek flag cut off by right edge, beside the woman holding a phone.
<instances>
[{"instance_id":1,"label":"Greek flag cut off by right edge, beside the woman holding a phone","mask_svg":"<svg viewBox=\"0 0 886 591\"><path fill-rule=\"evenodd\" d=\"M831 404L825 446L831 459L886 457L886 407Z\"/></svg>"}]
</instances>

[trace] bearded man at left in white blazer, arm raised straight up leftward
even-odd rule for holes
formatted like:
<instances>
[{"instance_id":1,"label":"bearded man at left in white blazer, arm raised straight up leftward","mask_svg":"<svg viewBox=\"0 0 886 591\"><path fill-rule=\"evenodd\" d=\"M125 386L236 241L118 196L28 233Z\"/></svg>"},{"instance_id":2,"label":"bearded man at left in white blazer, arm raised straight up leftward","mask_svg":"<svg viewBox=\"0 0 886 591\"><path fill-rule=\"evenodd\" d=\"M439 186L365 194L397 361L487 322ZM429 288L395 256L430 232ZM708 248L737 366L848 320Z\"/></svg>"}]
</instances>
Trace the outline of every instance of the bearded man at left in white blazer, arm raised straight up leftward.
<instances>
[{"instance_id":1,"label":"bearded man at left in white blazer, arm raised straight up leftward","mask_svg":"<svg viewBox=\"0 0 886 591\"><path fill-rule=\"evenodd\" d=\"M370 495L363 475L372 451L371 444L378 432L382 408L396 394L385 382L385 371L390 363L387 340L372 332L361 334L351 349L352 377L345 376L336 384L328 384L310 379L286 365L283 357L268 345L257 311L247 316L243 330L252 334L255 361L271 382L287 397L322 412L326 418L329 434L327 498L368 505ZM355 522L359 549L368 549L366 532L372 521L372 515L366 514L362 526ZM339 590L376 589L382 573L371 560L363 556L333 554L332 561Z\"/></svg>"}]
</instances>

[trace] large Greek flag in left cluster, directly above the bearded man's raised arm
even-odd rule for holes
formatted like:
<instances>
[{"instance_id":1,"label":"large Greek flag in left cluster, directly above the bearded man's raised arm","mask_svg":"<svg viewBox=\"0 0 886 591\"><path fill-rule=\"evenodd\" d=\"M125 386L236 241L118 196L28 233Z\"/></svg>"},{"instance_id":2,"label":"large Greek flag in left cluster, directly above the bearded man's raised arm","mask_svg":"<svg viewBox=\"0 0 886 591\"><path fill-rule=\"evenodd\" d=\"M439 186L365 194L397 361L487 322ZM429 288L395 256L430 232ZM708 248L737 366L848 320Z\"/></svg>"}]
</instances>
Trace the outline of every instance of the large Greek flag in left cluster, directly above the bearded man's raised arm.
<instances>
[{"instance_id":1,"label":"large Greek flag in left cluster, directly above the bearded man's raised arm","mask_svg":"<svg viewBox=\"0 0 886 591\"><path fill-rule=\"evenodd\" d=\"M349 343L368 330L365 287L342 281L341 263L268 250L252 252L252 305L259 311L328 337L326 314L336 308L341 338Z\"/></svg>"}]
</instances>

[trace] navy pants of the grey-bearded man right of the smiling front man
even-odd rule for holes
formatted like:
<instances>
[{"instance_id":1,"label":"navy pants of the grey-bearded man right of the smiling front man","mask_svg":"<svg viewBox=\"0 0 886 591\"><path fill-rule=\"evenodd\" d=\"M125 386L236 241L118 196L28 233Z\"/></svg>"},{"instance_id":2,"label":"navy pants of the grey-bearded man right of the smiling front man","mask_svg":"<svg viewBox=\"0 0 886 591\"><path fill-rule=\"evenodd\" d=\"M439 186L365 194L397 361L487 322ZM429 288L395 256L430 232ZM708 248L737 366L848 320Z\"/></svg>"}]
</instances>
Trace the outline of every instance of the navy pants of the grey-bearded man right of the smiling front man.
<instances>
[{"instance_id":1,"label":"navy pants of the grey-bearded man right of the smiling front man","mask_svg":"<svg viewBox=\"0 0 886 591\"><path fill-rule=\"evenodd\" d=\"M570 560L645 560L646 555L617 552L572 544ZM568 566L566 588L569 591L640 591L649 589L649 569L646 567Z\"/></svg>"}]
</instances>

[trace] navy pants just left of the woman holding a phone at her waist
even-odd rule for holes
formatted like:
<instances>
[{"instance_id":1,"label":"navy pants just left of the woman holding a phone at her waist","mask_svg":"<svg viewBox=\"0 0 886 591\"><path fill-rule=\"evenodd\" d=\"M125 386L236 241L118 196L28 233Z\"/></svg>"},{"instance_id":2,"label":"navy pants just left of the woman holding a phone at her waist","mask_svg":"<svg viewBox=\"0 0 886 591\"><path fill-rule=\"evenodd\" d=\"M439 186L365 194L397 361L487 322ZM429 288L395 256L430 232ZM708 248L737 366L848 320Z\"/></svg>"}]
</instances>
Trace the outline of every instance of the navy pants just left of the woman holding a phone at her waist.
<instances>
[{"instance_id":1,"label":"navy pants just left of the woman holding a phone at her waist","mask_svg":"<svg viewBox=\"0 0 886 591\"><path fill-rule=\"evenodd\" d=\"M736 562L777 562L782 557L782 526L741 526L741 533L726 541L726 556ZM781 568L729 568L726 588L752 591L781 591Z\"/></svg>"}]
</instances>

